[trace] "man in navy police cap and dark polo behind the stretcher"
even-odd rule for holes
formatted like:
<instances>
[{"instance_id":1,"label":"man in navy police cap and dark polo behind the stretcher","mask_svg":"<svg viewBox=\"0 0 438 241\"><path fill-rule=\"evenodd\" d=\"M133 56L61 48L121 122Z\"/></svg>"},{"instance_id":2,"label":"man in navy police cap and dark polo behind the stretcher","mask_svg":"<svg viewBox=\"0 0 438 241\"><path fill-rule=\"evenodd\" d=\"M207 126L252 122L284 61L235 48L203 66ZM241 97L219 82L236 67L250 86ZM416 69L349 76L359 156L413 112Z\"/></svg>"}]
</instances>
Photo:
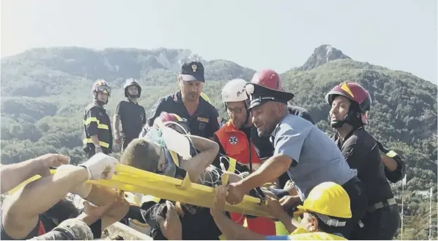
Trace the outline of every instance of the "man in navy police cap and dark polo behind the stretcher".
<instances>
[{"instance_id":1,"label":"man in navy police cap and dark polo behind the stretcher","mask_svg":"<svg viewBox=\"0 0 438 241\"><path fill-rule=\"evenodd\" d=\"M219 130L219 113L213 105L201 97L204 87L204 66L201 62L186 62L178 74L180 90L173 95L159 99L152 107L152 115L148 119L149 126L154 124L161 112L175 113L190 127L192 135L213 139Z\"/></svg>"}]
</instances>

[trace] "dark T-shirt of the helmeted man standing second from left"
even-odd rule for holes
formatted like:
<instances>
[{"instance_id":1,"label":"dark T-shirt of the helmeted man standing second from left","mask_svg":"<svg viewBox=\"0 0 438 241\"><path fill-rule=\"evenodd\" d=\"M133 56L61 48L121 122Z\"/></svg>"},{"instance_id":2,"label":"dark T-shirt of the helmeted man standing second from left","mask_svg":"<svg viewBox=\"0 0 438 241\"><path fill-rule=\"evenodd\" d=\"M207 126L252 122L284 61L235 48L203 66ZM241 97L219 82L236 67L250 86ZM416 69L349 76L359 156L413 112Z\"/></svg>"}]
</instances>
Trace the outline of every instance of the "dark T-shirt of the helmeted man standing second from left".
<instances>
[{"instance_id":1,"label":"dark T-shirt of the helmeted man standing second from left","mask_svg":"<svg viewBox=\"0 0 438 241\"><path fill-rule=\"evenodd\" d=\"M121 121L121 145L124 150L129 142L140 135L146 123L146 112L140 104L122 100L117 104L115 114Z\"/></svg>"}]
</instances>

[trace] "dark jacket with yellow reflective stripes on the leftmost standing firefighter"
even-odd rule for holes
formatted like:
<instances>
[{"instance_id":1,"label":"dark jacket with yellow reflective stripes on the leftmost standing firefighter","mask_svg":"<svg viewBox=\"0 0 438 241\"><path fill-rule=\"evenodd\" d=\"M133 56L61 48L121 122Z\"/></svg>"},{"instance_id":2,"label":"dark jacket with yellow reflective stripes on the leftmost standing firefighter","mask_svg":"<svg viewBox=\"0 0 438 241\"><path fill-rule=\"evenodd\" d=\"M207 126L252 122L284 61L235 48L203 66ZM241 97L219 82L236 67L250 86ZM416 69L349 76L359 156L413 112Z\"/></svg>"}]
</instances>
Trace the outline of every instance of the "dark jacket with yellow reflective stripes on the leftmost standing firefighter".
<instances>
[{"instance_id":1,"label":"dark jacket with yellow reflective stripes on the leftmost standing firefighter","mask_svg":"<svg viewBox=\"0 0 438 241\"><path fill-rule=\"evenodd\" d=\"M88 104L84 113L84 151L88 158L95 154L95 146L91 141L91 136L98 135L99 144L102 152L109 154L112 151L112 129L110 116L102 106L93 102Z\"/></svg>"}]
</instances>

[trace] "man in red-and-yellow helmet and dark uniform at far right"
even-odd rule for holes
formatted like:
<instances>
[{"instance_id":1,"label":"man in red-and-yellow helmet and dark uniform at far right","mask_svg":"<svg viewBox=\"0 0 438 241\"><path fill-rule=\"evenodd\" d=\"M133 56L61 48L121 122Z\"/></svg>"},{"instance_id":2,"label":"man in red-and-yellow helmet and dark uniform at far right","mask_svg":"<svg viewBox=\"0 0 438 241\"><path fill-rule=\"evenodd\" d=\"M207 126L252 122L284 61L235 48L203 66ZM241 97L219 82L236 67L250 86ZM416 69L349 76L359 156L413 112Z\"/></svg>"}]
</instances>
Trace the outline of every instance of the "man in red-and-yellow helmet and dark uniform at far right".
<instances>
[{"instance_id":1,"label":"man in red-and-yellow helmet and dark uniform at far right","mask_svg":"<svg viewBox=\"0 0 438 241\"><path fill-rule=\"evenodd\" d=\"M336 130L333 137L351 168L357 169L364 183L369 208L364 216L364 227L357 239L392 240L399 228L400 214L387 177L404 176L404 163L400 158L385 160L380 157L380 145L365 130L367 113L371 109L371 96L361 85L340 83L326 95L331 106L328 121ZM385 155L386 156L386 155Z\"/></svg>"}]
</instances>

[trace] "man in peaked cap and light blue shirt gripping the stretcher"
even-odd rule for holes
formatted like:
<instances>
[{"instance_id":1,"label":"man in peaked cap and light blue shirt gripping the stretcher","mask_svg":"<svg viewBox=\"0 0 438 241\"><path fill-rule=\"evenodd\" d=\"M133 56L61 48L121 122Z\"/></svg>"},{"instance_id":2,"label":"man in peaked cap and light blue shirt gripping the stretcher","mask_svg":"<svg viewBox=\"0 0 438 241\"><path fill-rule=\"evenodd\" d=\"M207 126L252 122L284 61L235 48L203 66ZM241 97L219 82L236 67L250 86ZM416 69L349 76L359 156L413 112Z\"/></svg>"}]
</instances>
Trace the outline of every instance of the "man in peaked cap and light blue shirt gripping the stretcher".
<instances>
[{"instance_id":1,"label":"man in peaked cap and light blue shirt gripping the stretcher","mask_svg":"<svg viewBox=\"0 0 438 241\"><path fill-rule=\"evenodd\" d=\"M229 184L227 202L240 203L252 188L277 179L284 172L295 182L302 195L295 198L293 206L302 202L310 190L326 181L343 186L351 200L352 219L342 228L349 238L352 228L364 216L366 195L343 154L324 132L299 116L288 113L287 103L293 98L290 92L272 90L249 83L246 92L251 103L248 109L260 137L271 137L274 156L267 159L258 170L237 183Z\"/></svg>"}]
</instances>

